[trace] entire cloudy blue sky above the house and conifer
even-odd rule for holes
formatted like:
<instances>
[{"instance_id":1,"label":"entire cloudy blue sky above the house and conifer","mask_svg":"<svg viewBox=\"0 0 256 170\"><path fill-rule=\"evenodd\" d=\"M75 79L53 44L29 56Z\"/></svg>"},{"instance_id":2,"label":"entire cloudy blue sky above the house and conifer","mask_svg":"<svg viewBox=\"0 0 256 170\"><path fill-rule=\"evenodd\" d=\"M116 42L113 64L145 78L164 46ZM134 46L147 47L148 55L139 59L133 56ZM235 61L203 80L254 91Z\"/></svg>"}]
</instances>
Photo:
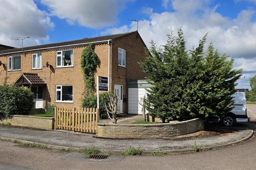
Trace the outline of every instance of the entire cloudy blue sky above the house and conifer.
<instances>
[{"instance_id":1,"label":"entire cloudy blue sky above the house and conifer","mask_svg":"<svg viewBox=\"0 0 256 170\"><path fill-rule=\"evenodd\" d=\"M0 44L20 47L12 36L29 36L25 46L136 30L159 46L183 29L187 48L206 32L220 53L235 58L246 87L256 74L256 0L0 0ZM19 4L19 5L17 5ZM243 78L238 88L244 87Z\"/></svg>"}]
</instances>

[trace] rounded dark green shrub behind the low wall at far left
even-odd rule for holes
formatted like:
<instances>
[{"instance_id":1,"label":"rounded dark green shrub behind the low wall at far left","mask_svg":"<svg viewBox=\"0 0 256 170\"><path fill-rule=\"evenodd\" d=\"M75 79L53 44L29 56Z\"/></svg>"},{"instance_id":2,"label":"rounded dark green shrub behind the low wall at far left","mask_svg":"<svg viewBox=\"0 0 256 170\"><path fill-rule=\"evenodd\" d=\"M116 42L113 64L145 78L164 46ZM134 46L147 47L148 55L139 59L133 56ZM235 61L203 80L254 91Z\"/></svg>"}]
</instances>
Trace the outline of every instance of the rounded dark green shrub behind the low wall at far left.
<instances>
[{"instance_id":1,"label":"rounded dark green shrub behind the low wall at far left","mask_svg":"<svg viewBox=\"0 0 256 170\"><path fill-rule=\"evenodd\" d=\"M0 86L0 120L12 115L26 115L34 106L34 95L30 89L4 84Z\"/></svg>"}]
</instances>

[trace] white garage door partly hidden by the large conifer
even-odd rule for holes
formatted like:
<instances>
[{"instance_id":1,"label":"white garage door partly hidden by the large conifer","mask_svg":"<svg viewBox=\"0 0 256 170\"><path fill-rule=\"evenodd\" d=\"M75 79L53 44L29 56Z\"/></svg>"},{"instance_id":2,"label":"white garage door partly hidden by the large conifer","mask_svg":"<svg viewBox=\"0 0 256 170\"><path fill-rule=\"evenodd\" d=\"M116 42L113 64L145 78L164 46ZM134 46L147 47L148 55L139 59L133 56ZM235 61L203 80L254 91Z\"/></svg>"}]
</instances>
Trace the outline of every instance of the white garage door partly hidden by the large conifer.
<instances>
[{"instance_id":1,"label":"white garage door partly hidden by the large conifer","mask_svg":"<svg viewBox=\"0 0 256 170\"><path fill-rule=\"evenodd\" d=\"M146 96L145 88L129 88L128 89L128 113L129 114L142 114L141 105L139 104L140 98Z\"/></svg>"}]
</instances>

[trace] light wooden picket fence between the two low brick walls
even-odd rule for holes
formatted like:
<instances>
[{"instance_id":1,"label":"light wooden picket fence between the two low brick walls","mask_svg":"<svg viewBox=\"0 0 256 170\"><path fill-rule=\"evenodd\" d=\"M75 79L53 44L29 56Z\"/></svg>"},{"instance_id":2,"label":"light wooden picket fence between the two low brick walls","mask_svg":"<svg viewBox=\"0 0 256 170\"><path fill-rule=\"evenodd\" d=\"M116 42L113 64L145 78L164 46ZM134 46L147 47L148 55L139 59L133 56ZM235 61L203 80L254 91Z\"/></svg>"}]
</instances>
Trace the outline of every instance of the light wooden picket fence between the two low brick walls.
<instances>
[{"instance_id":1,"label":"light wooden picket fence between the two low brick walls","mask_svg":"<svg viewBox=\"0 0 256 170\"><path fill-rule=\"evenodd\" d=\"M74 132L96 133L98 124L97 108L55 107L54 129Z\"/></svg>"}]
</instances>

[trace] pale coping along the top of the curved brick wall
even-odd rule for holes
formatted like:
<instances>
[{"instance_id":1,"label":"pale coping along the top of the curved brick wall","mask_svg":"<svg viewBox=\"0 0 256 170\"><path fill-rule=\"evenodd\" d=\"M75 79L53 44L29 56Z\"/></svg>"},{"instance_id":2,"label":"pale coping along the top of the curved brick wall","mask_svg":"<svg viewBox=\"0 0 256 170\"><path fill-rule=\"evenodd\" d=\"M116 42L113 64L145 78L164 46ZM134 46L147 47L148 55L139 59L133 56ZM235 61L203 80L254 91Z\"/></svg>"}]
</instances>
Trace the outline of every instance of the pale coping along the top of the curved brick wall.
<instances>
[{"instance_id":1,"label":"pale coping along the top of the curved brick wall","mask_svg":"<svg viewBox=\"0 0 256 170\"><path fill-rule=\"evenodd\" d=\"M148 126L169 126L169 125L179 125L179 124L186 124L188 122L193 122L196 120L199 120L201 118L193 118L188 121L171 121L170 123L155 123L155 124L114 124L114 123L98 123L100 126L143 126L143 127L148 127Z\"/></svg>"}]
</instances>

